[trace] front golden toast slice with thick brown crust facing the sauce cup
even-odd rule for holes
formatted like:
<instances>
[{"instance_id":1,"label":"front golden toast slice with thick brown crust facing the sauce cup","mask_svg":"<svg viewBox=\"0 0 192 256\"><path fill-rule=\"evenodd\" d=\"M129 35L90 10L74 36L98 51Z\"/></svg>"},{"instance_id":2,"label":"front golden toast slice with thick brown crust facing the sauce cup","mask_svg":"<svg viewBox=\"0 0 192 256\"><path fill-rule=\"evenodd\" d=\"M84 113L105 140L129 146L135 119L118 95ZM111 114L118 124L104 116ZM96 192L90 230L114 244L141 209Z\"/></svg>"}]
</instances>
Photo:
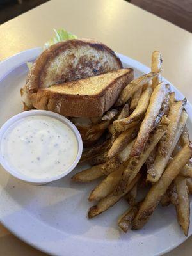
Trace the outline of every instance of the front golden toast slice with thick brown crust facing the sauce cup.
<instances>
[{"instance_id":1,"label":"front golden toast slice with thick brown crust facing the sauce cup","mask_svg":"<svg viewBox=\"0 0 192 256\"><path fill-rule=\"evenodd\" d=\"M71 117L96 117L108 111L133 79L132 68L108 72L49 88L31 95L33 106Z\"/></svg>"}]
</instances>

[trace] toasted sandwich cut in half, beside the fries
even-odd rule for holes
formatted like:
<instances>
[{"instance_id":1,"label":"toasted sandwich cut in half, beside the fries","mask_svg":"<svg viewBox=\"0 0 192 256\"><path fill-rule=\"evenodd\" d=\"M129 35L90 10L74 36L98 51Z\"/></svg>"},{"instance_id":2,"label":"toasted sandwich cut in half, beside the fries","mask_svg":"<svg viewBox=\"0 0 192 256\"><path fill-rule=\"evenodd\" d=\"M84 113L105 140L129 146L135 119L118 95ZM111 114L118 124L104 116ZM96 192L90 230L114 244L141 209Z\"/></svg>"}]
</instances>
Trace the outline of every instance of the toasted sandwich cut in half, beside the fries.
<instances>
[{"instance_id":1,"label":"toasted sandwich cut in half, beside the fries","mask_svg":"<svg viewBox=\"0 0 192 256\"><path fill-rule=\"evenodd\" d=\"M20 90L24 110L46 109L67 116L84 134L115 104L122 89L133 79L131 68L122 68L115 52L90 39L58 42L33 63L26 85ZM97 121L95 121L97 120Z\"/></svg>"}]
</instances>

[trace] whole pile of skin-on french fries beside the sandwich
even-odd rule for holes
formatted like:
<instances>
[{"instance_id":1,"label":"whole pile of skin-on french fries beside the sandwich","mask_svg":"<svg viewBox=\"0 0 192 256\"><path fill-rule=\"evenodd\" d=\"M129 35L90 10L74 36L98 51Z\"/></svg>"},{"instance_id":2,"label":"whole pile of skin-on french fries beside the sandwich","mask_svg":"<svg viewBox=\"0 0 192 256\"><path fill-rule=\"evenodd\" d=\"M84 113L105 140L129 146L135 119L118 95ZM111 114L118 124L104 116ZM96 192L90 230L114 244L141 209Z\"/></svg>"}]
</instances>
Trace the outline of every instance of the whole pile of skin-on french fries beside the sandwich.
<instances>
[{"instance_id":1,"label":"whole pile of skin-on french fries beside the sandwich","mask_svg":"<svg viewBox=\"0 0 192 256\"><path fill-rule=\"evenodd\" d=\"M90 207L88 218L107 211L120 199L127 200L129 209L117 222L127 232L142 228L159 203L173 204L188 236L192 145L186 127L186 99L176 100L169 84L161 80L161 65L161 54L154 51L151 72L129 83L113 108L88 131L95 134L108 129L108 136L83 152L81 162L90 161L92 168L72 180L90 182L103 177L88 198L97 202ZM138 200L143 186L148 193Z\"/></svg>"}]
</instances>

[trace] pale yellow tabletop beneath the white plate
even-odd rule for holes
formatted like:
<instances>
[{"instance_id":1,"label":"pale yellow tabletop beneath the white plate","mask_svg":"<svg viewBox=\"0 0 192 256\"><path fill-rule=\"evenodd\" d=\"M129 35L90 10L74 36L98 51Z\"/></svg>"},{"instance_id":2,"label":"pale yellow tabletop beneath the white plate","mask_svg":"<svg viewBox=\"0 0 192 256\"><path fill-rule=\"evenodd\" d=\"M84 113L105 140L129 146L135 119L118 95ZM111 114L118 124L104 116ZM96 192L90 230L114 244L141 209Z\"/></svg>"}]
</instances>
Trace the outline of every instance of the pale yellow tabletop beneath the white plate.
<instances>
[{"instance_id":1,"label":"pale yellow tabletop beneath the white plate","mask_svg":"<svg viewBox=\"0 0 192 256\"><path fill-rule=\"evenodd\" d=\"M95 38L114 51L150 66L154 49L163 54L163 76L192 102L192 35L122 0L52 0L0 26L0 61L43 45L52 28ZM166 256L189 256L192 236ZM0 255L42 256L0 225Z\"/></svg>"}]
</instances>

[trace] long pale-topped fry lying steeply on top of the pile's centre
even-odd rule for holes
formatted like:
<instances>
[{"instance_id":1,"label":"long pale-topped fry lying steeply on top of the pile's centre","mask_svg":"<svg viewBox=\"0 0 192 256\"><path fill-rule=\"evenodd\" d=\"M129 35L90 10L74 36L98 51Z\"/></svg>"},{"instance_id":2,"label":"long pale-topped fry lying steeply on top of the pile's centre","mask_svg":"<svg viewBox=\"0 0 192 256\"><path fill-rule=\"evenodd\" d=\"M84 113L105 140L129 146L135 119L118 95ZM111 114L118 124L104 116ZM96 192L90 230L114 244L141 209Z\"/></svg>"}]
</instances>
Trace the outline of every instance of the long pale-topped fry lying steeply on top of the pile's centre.
<instances>
[{"instance_id":1,"label":"long pale-topped fry lying steeply on top of the pile's centre","mask_svg":"<svg viewBox=\"0 0 192 256\"><path fill-rule=\"evenodd\" d=\"M161 109L165 94L165 85L163 83L158 84L150 97L150 103L148 105L145 118L141 123L136 142L132 148L131 156L139 156L141 154L150 132L154 129L154 122L157 118L159 110Z\"/></svg>"}]
</instances>

